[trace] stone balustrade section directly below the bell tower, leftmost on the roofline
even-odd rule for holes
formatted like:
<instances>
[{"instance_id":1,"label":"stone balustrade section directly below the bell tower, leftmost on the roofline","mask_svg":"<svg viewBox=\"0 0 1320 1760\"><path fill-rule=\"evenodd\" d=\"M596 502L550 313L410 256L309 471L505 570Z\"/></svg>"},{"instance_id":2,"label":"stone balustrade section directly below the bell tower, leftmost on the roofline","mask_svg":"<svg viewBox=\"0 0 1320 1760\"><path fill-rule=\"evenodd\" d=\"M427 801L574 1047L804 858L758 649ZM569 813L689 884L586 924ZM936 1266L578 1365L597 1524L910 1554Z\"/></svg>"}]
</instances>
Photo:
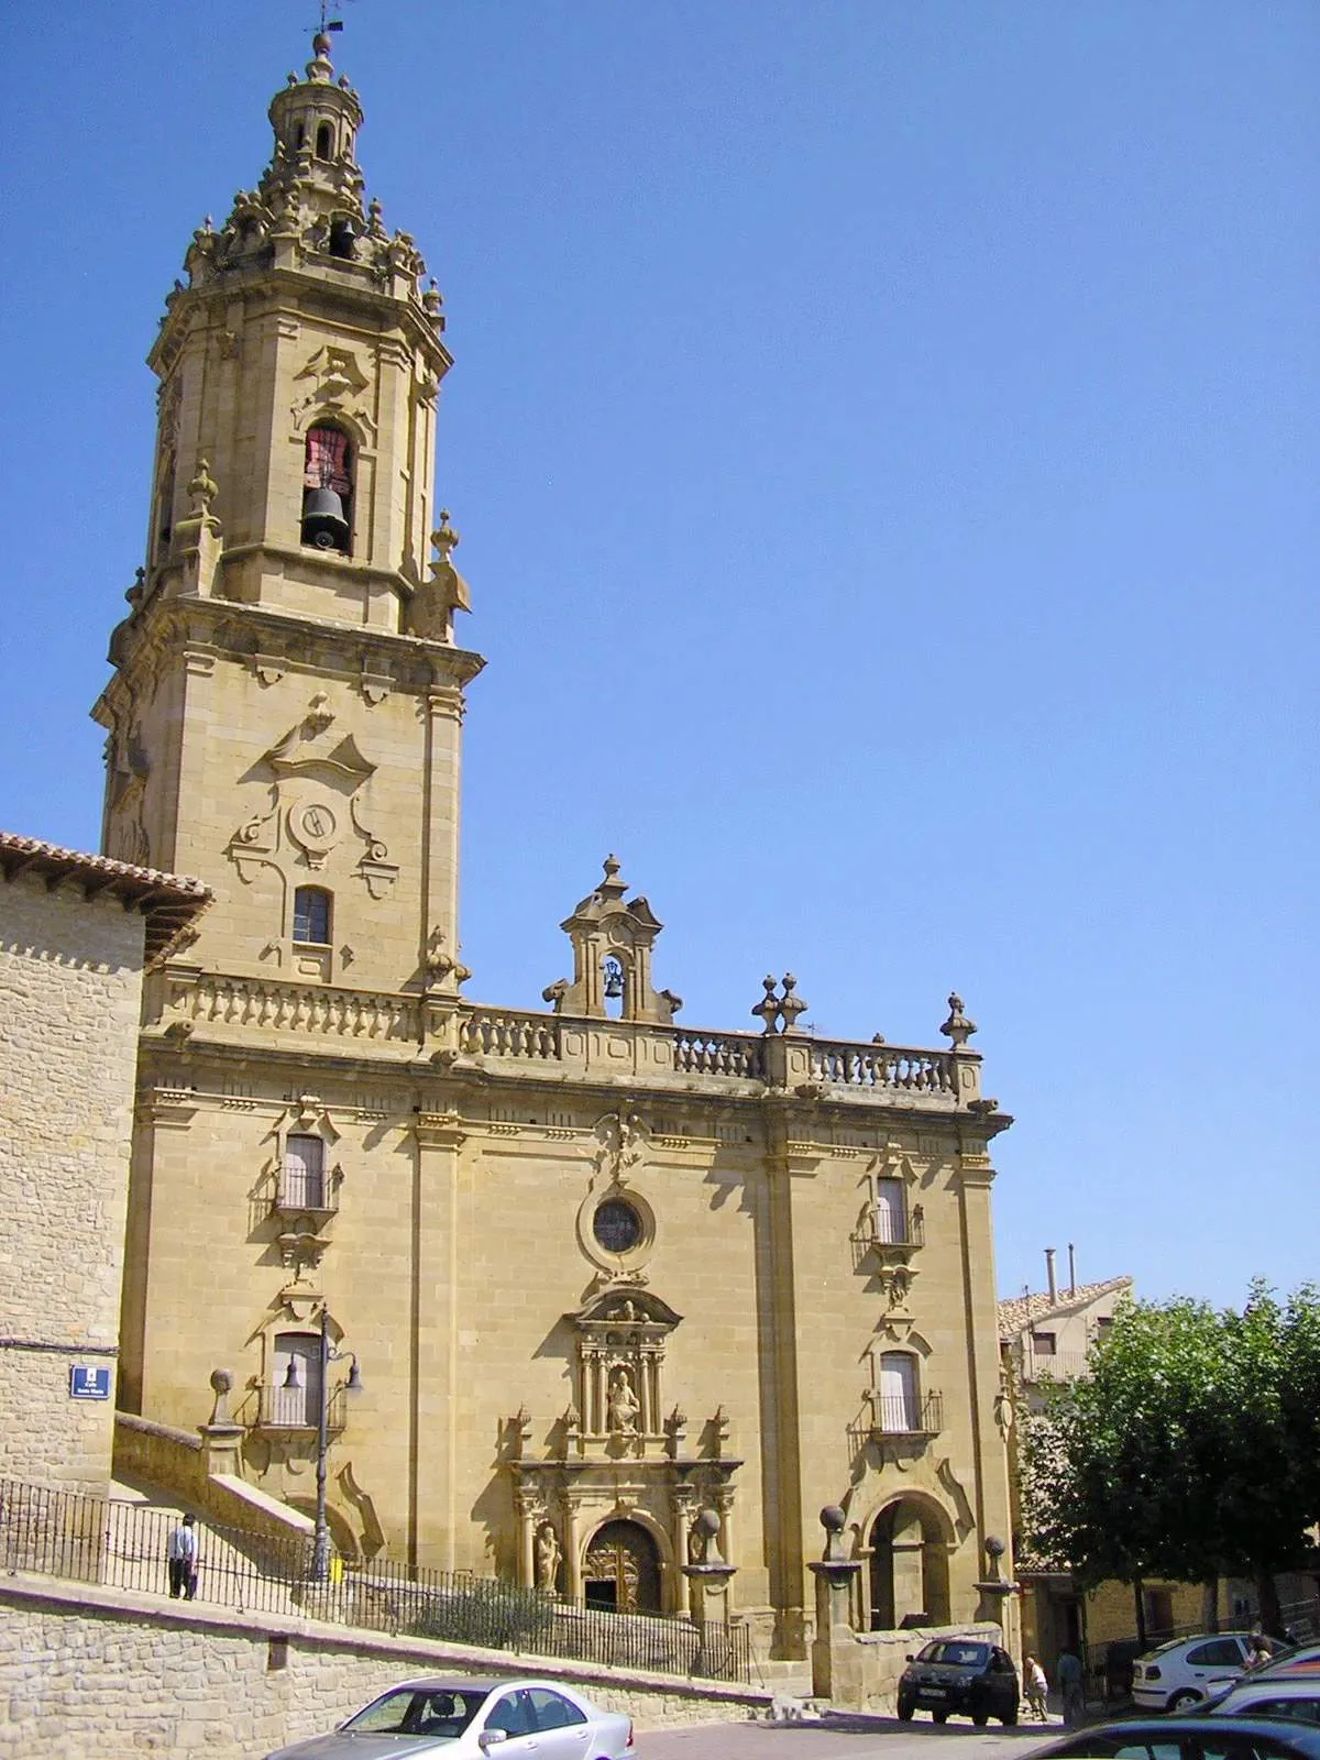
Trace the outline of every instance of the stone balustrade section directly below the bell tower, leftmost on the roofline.
<instances>
[{"instance_id":1,"label":"stone balustrade section directly below the bell tower, leftmost on the roofline","mask_svg":"<svg viewBox=\"0 0 1320 1760\"><path fill-rule=\"evenodd\" d=\"M398 996L331 986L280 984L275 979L216 977L209 972L187 982L174 980L169 1012L185 1021L257 1026L326 1038L398 1042L421 1037L417 1003Z\"/></svg>"}]
</instances>

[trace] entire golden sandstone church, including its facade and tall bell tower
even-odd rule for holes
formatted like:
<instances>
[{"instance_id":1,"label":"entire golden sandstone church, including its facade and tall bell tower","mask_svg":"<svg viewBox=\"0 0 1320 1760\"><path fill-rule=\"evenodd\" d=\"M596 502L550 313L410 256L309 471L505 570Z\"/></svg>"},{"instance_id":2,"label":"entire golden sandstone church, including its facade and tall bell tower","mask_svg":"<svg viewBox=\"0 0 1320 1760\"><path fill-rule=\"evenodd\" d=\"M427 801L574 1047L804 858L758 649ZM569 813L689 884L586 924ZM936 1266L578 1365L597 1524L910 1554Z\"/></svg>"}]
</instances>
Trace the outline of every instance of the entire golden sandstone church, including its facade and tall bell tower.
<instances>
[{"instance_id":1,"label":"entire golden sandstone church, including its facade and tall bell tower","mask_svg":"<svg viewBox=\"0 0 1320 1760\"><path fill-rule=\"evenodd\" d=\"M950 998L940 1049L825 1042L792 975L759 1030L686 1028L612 857L542 1008L466 1000L482 660L433 500L440 296L364 201L326 37L269 114L150 356L148 554L95 709L106 852L215 896L146 980L120 1403L192 1427L229 1371L245 1475L310 1510L324 1401L350 1559L679 1614L713 1544L792 1656L841 1505L859 1626L984 1616L1008 1119L975 1028Z\"/></svg>"}]
</instances>

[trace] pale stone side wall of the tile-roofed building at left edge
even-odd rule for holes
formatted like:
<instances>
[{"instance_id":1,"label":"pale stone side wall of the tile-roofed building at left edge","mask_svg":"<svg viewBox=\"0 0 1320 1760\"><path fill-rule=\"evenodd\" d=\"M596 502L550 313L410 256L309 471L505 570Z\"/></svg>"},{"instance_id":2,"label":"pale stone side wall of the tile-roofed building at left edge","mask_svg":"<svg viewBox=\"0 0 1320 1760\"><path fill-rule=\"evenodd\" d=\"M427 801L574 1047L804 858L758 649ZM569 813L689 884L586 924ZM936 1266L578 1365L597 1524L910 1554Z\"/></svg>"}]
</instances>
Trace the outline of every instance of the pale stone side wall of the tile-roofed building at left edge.
<instances>
[{"instance_id":1,"label":"pale stone side wall of the tile-roofed building at left edge","mask_svg":"<svg viewBox=\"0 0 1320 1760\"><path fill-rule=\"evenodd\" d=\"M143 936L116 898L0 882L0 1478L109 1477L114 1401L69 1369L114 1366Z\"/></svg>"}]
</instances>

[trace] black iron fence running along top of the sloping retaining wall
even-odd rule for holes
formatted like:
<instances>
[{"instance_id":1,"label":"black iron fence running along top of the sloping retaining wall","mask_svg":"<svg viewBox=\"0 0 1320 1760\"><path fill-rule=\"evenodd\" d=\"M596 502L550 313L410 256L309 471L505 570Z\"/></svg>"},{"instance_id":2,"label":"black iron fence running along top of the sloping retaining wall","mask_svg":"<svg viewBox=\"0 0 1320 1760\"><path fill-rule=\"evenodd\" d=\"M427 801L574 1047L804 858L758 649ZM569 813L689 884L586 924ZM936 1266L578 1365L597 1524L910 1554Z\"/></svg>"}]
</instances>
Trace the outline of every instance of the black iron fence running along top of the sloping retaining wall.
<instances>
[{"instance_id":1,"label":"black iron fence running along top of the sloping retaining wall","mask_svg":"<svg viewBox=\"0 0 1320 1760\"><path fill-rule=\"evenodd\" d=\"M0 1478L0 1570L165 1595L169 1536L178 1522L178 1515L141 1503ZM195 1533L195 1595L222 1607L690 1679L752 1679L744 1624L597 1612L495 1577L389 1559L357 1565L336 1554L317 1579L310 1536L201 1521Z\"/></svg>"}]
</instances>

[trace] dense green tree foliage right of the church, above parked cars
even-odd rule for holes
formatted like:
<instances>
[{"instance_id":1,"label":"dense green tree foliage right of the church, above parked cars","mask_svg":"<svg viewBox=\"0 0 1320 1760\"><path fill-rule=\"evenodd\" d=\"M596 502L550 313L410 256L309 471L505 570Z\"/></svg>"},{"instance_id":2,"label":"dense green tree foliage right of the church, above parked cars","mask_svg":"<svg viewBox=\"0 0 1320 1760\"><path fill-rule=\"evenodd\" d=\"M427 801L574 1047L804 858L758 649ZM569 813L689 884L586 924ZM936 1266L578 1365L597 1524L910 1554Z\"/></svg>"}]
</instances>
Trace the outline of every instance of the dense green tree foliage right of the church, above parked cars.
<instances>
[{"instance_id":1,"label":"dense green tree foliage right of the church, above parked cars","mask_svg":"<svg viewBox=\"0 0 1320 1760\"><path fill-rule=\"evenodd\" d=\"M1024 1417L1021 1464L1030 1554L1084 1586L1295 1566L1320 1521L1320 1290L1125 1304Z\"/></svg>"}]
</instances>

